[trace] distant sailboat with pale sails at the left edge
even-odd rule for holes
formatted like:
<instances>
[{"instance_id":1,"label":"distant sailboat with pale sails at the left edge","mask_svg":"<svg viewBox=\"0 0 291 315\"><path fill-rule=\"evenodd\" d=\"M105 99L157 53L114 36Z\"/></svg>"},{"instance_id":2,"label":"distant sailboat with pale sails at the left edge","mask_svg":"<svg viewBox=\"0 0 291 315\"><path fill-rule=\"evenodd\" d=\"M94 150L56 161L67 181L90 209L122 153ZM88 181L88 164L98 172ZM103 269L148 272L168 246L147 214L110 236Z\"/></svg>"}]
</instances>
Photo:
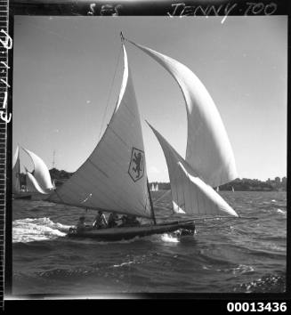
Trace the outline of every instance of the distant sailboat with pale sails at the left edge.
<instances>
[{"instance_id":1,"label":"distant sailboat with pale sails at the left edge","mask_svg":"<svg viewBox=\"0 0 291 315\"><path fill-rule=\"evenodd\" d=\"M42 158L39 158L34 152L22 148L31 158L34 164L34 170L26 171L26 190L20 190L20 149L17 146L13 162L12 162L12 198L28 198L32 197L32 194L40 193L46 195L53 190L53 183L51 180L50 172L45 166Z\"/></svg>"}]
</instances>

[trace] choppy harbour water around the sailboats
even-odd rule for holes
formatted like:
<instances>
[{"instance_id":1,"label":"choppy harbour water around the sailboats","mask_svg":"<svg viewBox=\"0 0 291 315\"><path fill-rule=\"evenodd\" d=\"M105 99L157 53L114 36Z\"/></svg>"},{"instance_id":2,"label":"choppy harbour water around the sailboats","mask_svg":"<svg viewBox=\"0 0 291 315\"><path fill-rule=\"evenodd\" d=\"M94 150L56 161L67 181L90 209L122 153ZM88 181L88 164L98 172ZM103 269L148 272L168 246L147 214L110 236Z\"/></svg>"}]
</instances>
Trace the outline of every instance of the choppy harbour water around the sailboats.
<instances>
[{"instance_id":1,"label":"choppy harbour water around the sailboats","mask_svg":"<svg viewBox=\"0 0 291 315\"><path fill-rule=\"evenodd\" d=\"M13 200L12 294L284 292L286 193L220 194L238 214L258 220L200 222L195 237L180 240L163 234L100 242L65 237L84 210ZM158 202L159 220L169 205L169 195Z\"/></svg>"}]
</instances>

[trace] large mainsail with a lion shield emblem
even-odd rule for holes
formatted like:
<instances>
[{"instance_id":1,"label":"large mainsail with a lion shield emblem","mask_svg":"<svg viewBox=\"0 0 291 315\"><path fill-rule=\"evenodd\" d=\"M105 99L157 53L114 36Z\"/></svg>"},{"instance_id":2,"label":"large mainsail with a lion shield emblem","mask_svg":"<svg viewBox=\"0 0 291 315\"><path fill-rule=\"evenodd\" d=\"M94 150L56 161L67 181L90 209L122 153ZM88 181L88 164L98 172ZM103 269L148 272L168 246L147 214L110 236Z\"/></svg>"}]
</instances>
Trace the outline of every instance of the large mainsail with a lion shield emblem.
<instances>
[{"instance_id":1,"label":"large mainsail with a lion shield emblem","mask_svg":"<svg viewBox=\"0 0 291 315\"><path fill-rule=\"evenodd\" d=\"M125 45L124 74L116 109L101 141L50 201L150 217L141 118Z\"/></svg>"}]
</instances>

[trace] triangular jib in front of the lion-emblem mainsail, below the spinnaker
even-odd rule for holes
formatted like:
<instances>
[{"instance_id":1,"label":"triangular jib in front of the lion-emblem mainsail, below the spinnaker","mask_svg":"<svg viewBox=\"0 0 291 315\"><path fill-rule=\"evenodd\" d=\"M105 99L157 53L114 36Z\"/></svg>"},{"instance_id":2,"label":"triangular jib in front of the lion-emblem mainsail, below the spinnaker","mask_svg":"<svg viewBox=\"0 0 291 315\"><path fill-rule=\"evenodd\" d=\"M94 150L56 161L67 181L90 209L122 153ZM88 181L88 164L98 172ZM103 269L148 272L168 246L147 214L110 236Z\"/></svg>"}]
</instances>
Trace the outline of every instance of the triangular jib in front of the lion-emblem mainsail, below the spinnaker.
<instances>
[{"instance_id":1,"label":"triangular jib in front of the lion-emblem mainsail, below the spinnaker","mask_svg":"<svg viewBox=\"0 0 291 315\"><path fill-rule=\"evenodd\" d=\"M150 124L149 124L150 125ZM198 178L192 167L166 139L150 125L164 151L175 213L238 216L214 189Z\"/></svg>"}]
</instances>

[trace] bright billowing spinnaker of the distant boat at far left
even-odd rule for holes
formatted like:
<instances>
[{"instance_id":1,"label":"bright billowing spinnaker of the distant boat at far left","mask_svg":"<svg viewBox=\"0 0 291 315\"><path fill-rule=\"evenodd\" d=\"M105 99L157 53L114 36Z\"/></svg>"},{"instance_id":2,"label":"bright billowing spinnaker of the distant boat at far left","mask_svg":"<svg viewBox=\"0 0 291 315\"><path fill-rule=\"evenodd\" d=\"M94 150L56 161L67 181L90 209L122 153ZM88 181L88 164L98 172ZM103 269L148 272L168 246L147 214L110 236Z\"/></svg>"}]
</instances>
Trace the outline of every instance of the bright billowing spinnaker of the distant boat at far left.
<instances>
[{"instance_id":1,"label":"bright billowing spinnaker of the distant boat at far left","mask_svg":"<svg viewBox=\"0 0 291 315\"><path fill-rule=\"evenodd\" d=\"M39 187L41 187L42 190L53 190L51 175L44 161L41 158L37 157L35 153L29 151L28 149L24 150L28 153L28 156L33 161L34 164L33 175Z\"/></svg>"}]
</instances>

